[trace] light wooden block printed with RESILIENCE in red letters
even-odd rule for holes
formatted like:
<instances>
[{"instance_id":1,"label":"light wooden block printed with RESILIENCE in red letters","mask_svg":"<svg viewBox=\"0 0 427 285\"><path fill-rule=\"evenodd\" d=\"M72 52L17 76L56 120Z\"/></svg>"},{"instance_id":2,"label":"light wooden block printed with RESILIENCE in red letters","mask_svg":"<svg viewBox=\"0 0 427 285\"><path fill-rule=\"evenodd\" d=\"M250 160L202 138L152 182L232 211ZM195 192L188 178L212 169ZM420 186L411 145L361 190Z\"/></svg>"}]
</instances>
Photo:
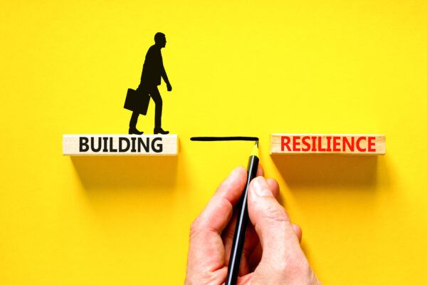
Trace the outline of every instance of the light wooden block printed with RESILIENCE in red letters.
<instances>
[{"instance_id":1,"label":"light wooden block printed with RESILIENCE in red letters","mask_svg":"<svg viewBox=\"0 0 427 285\"><path fill-rule=\"evenodd\" d=\"M386 136L272 134L270 154L282 153L384 155Z\"/></svg>"}]
</instances>

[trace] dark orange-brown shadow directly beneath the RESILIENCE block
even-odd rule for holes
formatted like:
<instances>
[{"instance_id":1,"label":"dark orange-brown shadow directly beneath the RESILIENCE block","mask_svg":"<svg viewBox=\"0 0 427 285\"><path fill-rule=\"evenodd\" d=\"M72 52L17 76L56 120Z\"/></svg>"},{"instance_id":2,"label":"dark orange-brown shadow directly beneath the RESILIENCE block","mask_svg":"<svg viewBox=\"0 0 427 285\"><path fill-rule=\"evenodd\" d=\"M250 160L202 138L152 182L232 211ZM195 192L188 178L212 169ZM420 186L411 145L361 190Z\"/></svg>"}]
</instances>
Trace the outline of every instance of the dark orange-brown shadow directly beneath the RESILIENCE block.
<instances>
[{"instance_id":1,"label":"dark orange-brown shadow directly beneath the RESILIENCE block","mask_svg":"<svg viewBox=\"0 0 427 285\"><path fill-rule=\"evenodd\" d=\"M376 186L376 155L272 155L290 189L373 189Z\"/></svg>"}]
</instances>

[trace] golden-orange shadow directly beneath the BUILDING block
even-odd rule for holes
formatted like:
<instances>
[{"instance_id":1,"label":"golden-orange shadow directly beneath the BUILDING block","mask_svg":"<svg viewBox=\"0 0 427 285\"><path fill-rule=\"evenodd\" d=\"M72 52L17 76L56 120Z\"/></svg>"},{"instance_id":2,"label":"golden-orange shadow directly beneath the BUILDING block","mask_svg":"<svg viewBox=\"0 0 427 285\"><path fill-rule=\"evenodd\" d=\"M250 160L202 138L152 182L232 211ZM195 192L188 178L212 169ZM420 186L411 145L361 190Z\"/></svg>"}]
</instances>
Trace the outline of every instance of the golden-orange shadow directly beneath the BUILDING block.
<instances>
[{"instance_id":1,"label":"golden-orange shadow directly beneath the BUILDING block","mask_svg":"<svg viewBox=\"0 0 427 285\"><path fill-rule=\"evenodd\" d=\"M176 183L177 156L73 156L71 161L86 190L171 190Z\"/></svg>"}]
</instances>

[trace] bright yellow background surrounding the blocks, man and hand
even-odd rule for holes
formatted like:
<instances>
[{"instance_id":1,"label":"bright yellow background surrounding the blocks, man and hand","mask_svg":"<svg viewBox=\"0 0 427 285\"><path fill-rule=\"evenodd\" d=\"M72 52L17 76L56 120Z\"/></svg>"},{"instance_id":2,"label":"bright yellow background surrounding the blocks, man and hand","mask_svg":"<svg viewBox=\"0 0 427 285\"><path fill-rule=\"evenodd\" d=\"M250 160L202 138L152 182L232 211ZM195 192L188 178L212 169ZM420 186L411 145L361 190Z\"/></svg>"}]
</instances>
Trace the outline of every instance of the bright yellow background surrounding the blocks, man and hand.
<instances>
[{"instance_id":1,"label":"bright yellow background surrounding the blocks, man and hand","mask_svg":"<svg viewBox=\"0 0 427 285\"><path fill-rule=\"evenodd\" d=\"M0 284L181 284L191 220L252 147L193 135L260 137L324 284L426 284L426 1L1 1L0 24ZM157 31L179 157L63 157L62 134L127 133ZM387 154L272 158L270 133Z\"/></svg>"}]
</instances>

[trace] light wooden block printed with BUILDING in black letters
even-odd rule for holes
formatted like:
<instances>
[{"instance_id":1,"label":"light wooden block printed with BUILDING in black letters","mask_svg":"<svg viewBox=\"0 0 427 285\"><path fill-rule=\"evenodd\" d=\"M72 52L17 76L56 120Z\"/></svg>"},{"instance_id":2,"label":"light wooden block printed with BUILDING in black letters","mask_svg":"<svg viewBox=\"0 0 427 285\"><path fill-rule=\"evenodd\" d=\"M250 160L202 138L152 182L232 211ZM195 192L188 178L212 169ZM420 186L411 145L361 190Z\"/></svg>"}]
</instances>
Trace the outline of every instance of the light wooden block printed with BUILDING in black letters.
<instances>
[{"instance_id":1,"label":"light wooden block printed with BUILDING in black letters","mask_svg":"<svg viewBox=\"0 0 427 285\"><path fill-rule=\"evenodd\" d=\"M63 135L63 155L178 155L178 135Z\"/></svg>"}]
</instances>

